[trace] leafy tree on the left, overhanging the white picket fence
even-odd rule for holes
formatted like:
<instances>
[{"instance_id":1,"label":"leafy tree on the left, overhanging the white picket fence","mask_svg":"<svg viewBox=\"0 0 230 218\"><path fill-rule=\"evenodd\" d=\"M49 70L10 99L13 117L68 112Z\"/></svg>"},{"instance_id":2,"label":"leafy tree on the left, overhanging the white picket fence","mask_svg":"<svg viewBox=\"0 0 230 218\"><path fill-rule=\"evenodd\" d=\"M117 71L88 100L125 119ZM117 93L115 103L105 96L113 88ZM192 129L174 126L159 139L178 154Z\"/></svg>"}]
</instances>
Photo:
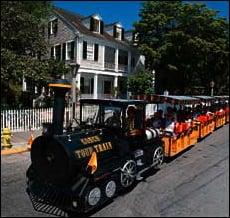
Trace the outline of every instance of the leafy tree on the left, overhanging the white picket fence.
<instances>
[{"instance_id":1,"label":"leafy tree on the left, overhanging the white picket fence","mask_svg":"<svg viewBox=\"0 0 230 218\"><path fill-rule=\"evenodd\" d=\"M2 103L20 103L23 77L45 86L68 71L62 62L41 58L48 48L43 31L51 9L46 1L1 1Z\"/></svg>"}]
</instances>

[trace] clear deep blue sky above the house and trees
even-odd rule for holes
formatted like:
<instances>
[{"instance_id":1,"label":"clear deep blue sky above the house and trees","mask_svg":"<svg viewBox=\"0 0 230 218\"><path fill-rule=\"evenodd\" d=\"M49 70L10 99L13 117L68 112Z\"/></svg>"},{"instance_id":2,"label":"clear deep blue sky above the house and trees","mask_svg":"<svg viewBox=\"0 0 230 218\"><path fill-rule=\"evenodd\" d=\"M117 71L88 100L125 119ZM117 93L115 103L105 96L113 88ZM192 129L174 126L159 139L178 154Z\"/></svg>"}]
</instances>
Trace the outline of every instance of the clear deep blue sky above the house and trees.
<instances>
[{"instance_id":1,"label":"clear deep blue sky above the house and trees","mask_svg":"<svg viewBox=\"0 0 230 218\"><path fill-rule=\"evenodd\" d=\"M229 2L226 1L186 1L205 3L209 8L219 11L219 16L229 19ZM139 20L141 1L54 1L57 7L88 16L100 14L105 24L121 22L125 30L132 29Z\"/></svg>"}]
</instances>

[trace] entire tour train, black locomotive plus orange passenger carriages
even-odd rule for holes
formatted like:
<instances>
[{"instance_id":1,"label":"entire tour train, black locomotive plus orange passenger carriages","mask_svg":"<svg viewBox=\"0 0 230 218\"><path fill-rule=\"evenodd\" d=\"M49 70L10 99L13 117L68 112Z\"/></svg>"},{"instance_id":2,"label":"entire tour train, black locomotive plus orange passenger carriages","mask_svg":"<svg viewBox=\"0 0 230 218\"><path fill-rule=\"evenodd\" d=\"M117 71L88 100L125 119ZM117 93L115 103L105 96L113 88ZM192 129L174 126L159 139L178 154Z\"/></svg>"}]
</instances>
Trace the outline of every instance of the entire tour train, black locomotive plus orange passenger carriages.
<instances>
[{"instance_id":1,"label":"entire tour train, black locomotive plus orange passenger carriages","mask_svg":"<svg viewBox=\"0 0 230 218\"><path fill-rule=\"evenodd\" d=\"M80 119L64 129L71 85L57 80L49 86L53 121L32 143L26 177L34 209L57 216L102 207L144 172L229 122L228 96L138 95L81 99Z\"/></svg>"}]
</instances>

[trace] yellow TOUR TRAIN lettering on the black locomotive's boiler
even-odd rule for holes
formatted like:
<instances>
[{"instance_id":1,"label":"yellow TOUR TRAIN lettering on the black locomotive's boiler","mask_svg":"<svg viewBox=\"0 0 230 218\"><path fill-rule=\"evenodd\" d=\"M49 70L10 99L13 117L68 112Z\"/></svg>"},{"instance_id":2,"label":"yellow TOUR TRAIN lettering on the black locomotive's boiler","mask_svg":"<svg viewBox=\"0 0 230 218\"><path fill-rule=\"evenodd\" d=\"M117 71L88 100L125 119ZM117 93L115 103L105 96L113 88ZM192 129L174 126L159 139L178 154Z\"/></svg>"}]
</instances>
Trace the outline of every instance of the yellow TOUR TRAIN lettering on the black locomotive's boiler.
<instances>
[{"instance_id":1,"label":"yellow TOUR TRAIN lettering on the black locomotive's boiler","mask_svg":"<svg viewBox=\"0 0 230 218\"><path fill-rule=\"evenodd\" d=\"M84 149L80 149L80 150L76 150L75 151L75 155L78 158L84 158L84 157L88 157L90 156L93 151L95 150L97 153L103 152L103 151L107 151L107 150L111 150L112 147L112 143L111 142L104 142L101 144L97 144L88 148L84 148Z\"/></svg>"}]
</instances>

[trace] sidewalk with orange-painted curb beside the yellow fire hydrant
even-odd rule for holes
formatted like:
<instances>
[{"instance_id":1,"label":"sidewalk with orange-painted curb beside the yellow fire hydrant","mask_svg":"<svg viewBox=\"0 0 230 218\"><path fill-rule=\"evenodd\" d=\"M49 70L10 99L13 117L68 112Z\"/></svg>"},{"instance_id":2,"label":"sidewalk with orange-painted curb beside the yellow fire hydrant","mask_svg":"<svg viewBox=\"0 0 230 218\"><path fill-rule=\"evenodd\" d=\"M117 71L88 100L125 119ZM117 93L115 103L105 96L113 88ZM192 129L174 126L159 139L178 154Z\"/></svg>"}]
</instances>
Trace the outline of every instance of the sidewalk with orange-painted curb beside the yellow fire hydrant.
<instances>
[{"instance_id":1,"label":"sidewalk with orange-painted curb beside the yellow fire hydrant","mask_svg":"<svg viewBox=\"0 0 230 218\"><path fill-rule=\"evenodd\" d=\"M27 132L13 132L11 136L12 147L10 149L1 150L1 155L17 154L29 151L28 140L33 134L34 139L41 135L41 130L27 131Z\"/></svg>"}]
</instances>

